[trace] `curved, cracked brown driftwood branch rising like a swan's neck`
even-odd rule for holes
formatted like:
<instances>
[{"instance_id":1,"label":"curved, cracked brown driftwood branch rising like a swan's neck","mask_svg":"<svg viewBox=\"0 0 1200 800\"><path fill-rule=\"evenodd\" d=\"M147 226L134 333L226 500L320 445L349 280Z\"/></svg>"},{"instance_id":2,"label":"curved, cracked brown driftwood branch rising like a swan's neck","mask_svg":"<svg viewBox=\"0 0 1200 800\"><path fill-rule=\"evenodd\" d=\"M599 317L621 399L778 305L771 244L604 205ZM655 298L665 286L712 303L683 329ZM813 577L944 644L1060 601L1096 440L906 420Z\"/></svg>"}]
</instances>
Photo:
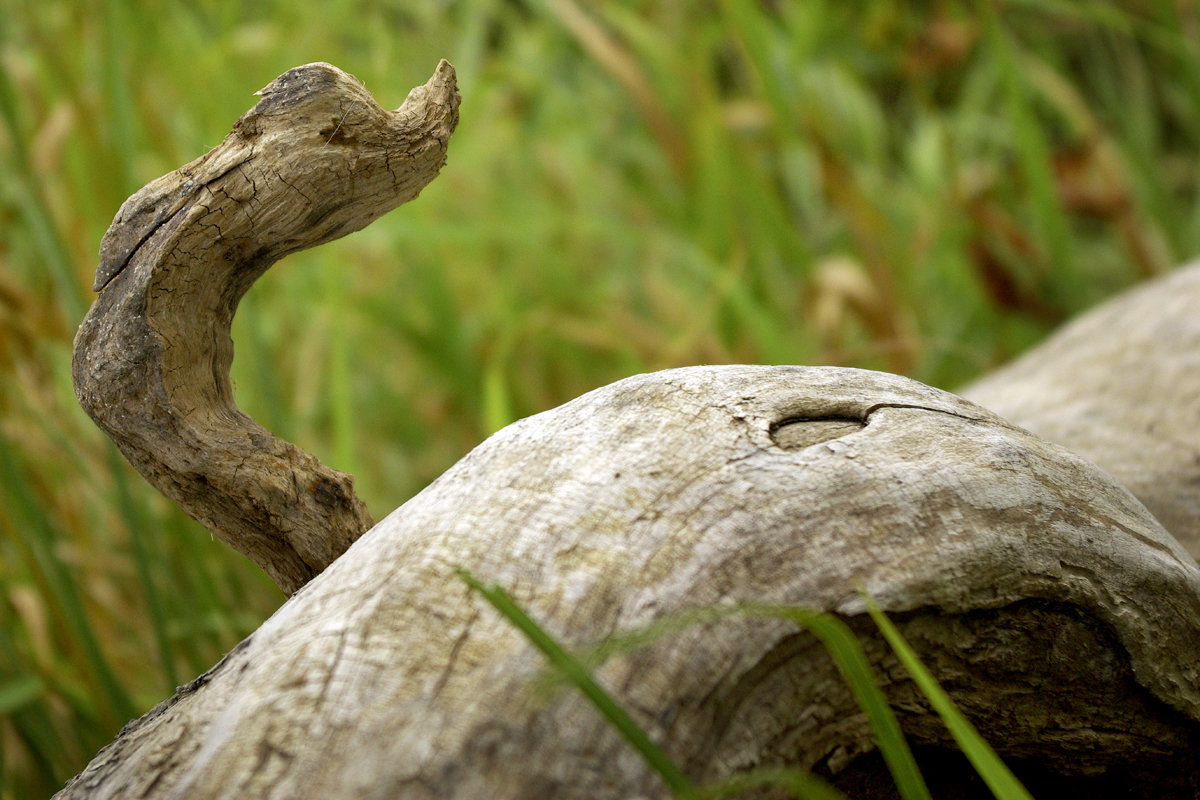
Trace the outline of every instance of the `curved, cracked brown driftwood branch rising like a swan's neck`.
<instances>
[{"instance_id":1,"label":"curved, cracked brown driftwood branch rising like a swan's neck","mask_svg":"<svg viewBox=\"0 0 1200 800\"><path fill-rule=\"evenodd\" d=\"M328 64L259 94L217 148L121 206L72 374L130 463L290 594L372 521L349 475L234 405L234 311L280 258L416 197L445 163L460 101L446 61L395 112Z\"/></svg>"}]
</instances>

